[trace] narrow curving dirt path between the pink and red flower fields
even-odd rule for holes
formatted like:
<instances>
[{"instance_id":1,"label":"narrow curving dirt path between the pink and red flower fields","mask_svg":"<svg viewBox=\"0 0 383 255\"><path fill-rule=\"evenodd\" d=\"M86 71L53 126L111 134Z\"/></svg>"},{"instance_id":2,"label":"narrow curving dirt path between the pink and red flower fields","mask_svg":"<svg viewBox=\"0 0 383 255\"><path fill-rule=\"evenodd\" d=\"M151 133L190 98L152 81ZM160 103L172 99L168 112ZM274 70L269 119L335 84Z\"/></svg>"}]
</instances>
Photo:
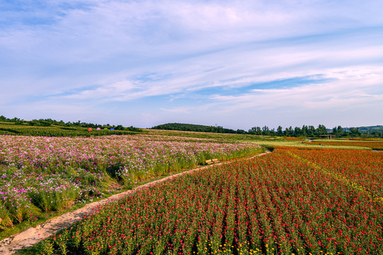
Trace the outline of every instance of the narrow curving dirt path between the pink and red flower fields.
<instances>
[{"instance_id":1,"label":"narrow curving dirt path between the pink and red flower fields","mask_svg":"<svg viewBox=\"0 0 383 255\"><path fill-rule=\"evenodd\" d=\"M258 154L254 157L260 157L265 154L270 153L270 151L267 151L262 154ZM248 158L248 159L252 159ZM227 164L229 162L225 163L219 163L219 164ZM215 165L219 165L215 164ZM200 171L203 169L207 169L210 166L204 166L196 169L191 169L189 171L184 171L180 174L174 174L171 176L167 176L163 179L159 179L157 181L152 181L151 183L144 184L142 186L138 186L130 191L125 191L122 193L115 194L113 196L110 196L109 198L105 198L103 200L89 203L85 205L83 208L74 210L72 212L64 213L63 215L54 217L50 220L47 220L47 222L44 222L37 227L30 227L29 229L24 230L23 232L20 232L18 234L15 234L9 238L3 239L0 242L0 254L1 255L8 255L8 254L14 254L17 251L27 248L30 246L33 246L34 244L37 244L41 241L41 239L45 239L47 237L50 237L52 234L55 234L59 232L59 230L63 229L64 227L69 227L74 224L74 222L78 221L83 217L84 215L91 213L92 210L97 208L100 205L105 205L106 203L110 203L114 200L118 200L120 198L123 198L125 196L130 196L134 193L136 193L139 190L147 189L150 186L156 185L157 183L164 182L168 179L176 178L177 176L181 176L183 174L190 174L193 171Z\"/></svg>"}]
</instances>

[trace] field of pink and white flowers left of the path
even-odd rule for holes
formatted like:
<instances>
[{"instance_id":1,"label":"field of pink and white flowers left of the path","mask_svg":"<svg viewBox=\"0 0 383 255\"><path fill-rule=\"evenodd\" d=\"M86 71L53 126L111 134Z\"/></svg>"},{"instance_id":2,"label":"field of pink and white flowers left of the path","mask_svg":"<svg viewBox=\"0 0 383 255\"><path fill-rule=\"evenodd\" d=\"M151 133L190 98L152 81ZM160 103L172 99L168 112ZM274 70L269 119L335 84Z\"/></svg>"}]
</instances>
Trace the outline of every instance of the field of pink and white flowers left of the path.
<instances>
[{"instance_id":1,"label":"field of pink and white flowers left of the path","mask_svg":"<svg viewBox=\"0 0 383 255\"><path fill-rule=\"evenodd\" d=\"M154 135L0 136L0 229L100 198L110 186L244 157L255 144Z\"/></svg>"}]
</instances>

